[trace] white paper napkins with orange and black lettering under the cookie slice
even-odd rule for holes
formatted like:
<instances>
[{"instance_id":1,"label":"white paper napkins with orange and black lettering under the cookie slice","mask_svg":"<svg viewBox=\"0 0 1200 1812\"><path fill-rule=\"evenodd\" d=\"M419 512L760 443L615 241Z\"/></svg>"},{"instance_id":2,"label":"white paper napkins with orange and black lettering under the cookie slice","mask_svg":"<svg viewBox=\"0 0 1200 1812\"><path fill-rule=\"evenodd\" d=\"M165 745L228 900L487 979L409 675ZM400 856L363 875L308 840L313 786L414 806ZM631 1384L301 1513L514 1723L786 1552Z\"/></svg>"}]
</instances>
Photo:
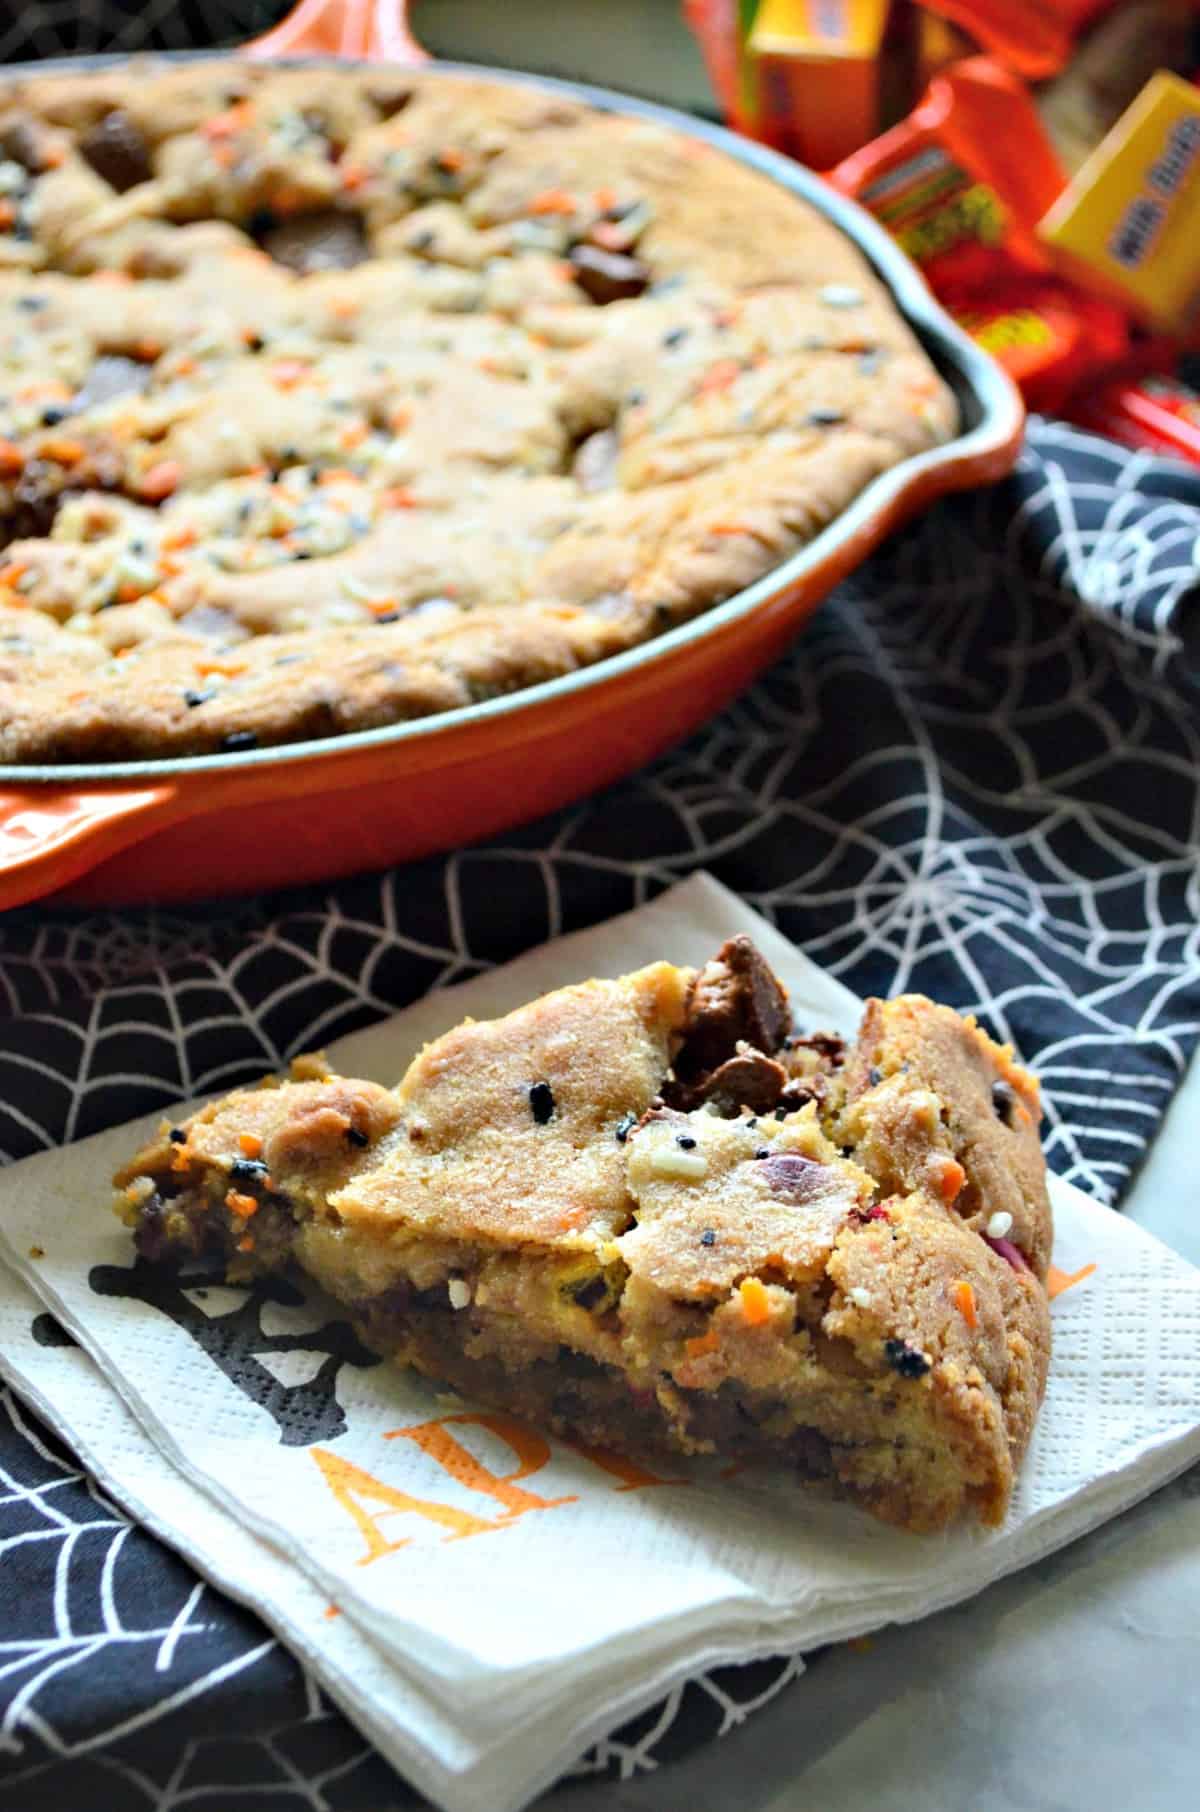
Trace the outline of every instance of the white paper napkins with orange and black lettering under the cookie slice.
<instances>
[{"instance_id":1,"label":"white paper napkins with orange and black lettering under the cookie slice","mask_svg":"<svg viewBox=\"0 0 1200 1812\"><path fill-rule=\"evenodd\" d=\"M845 988L694 877L330 1055L344 1073L392 1082L424 1038L466 1013L502 1013L546 988L656 957L700 962L738 930L789 984L801 1024L854 1029L857 1002ZM105 1477L254 1602L343 1703L346 1669L363 1682L363 1643L379 1665L370 1694L346 1703L350 1716L451 1812L524 1805L605 1723L716 1660L803 1649L961 1600L1200 1453L1200 1272L1068 1185L1053 1190L1055 1261L1095 1272L1055 1303L1050 1392L999 1531L912 1537L789 1482L721 1480L692 1464L660 1468L680 1482L631 1488L537 1433L455 1421L469 1408L386 1366L339 1370L343 1433L315 1450L281 1444L268 1410L185 1326L89 1283L94 1267L109 1267L107 1288L121 1288L131 1265L129 1236L107 1214L105 1174L141 1131L107 1132L0 1178L13 1267L109 1381L91 1388L112 1419L98 1455ZM239 1299L212 1292L227 1294ZM312 1316L261 1312L263 1328L286 1326L288 1316L301 1335L285 1364L294 1381ZM9 1364L36 1383L45 1357ZM76 1444L91 1433L100 1446L100 1404L73 1412L67 1384L53 1419ZM172 1466L170 1504L147 1500L150 1450ZM239 1560L225 1553L230 1524L241 1529ZM341 1614L328 1618L328 1604Z\"/></svg>"}]
</instances>

